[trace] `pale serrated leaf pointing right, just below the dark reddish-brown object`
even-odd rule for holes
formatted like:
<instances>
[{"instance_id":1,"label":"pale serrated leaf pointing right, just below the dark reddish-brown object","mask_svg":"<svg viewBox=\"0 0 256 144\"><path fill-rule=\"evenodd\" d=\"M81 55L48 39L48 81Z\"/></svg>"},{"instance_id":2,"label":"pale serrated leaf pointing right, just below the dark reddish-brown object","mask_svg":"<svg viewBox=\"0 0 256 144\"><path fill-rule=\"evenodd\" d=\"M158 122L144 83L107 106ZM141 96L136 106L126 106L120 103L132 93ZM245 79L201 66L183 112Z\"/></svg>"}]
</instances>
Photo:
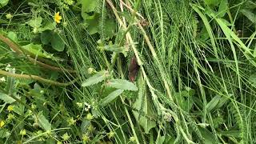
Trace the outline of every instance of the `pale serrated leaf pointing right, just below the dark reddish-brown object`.
<instances>
[{"instance_id":1,"label":"pale serrated leaf pointing right, just below the dark reddish-brown object","mask_svg":"<svg viewBox=\"0 0 256 144\"><path fill-rule=\"evenodd\" d=\"M134 83L129 82L125 79L111 79L109 82L107 82L107 86L121 90L138 90L137 86L135 86Z\"/></svg>"}]
</instances>

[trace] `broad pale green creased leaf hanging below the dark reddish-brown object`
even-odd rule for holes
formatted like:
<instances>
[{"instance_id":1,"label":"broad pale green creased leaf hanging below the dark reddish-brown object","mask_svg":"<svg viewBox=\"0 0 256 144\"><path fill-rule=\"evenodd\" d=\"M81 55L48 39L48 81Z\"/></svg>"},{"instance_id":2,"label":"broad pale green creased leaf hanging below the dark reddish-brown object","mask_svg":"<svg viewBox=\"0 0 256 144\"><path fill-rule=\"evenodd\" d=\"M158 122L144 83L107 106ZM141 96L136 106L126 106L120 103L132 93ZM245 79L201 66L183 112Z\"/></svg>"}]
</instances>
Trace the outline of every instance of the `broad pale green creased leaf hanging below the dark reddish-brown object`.
<instances>
[{"instance_id":1,"label":"broad pale green creased leaf hanging below the dark reddish-brown object","mask_svg":"<svg viewBox=\"0 0 256 144\"><path fill-rule=\"evenodd\" d=\"M142 111L146 116L154 118L155 112L152 106L152 102L150 102L150 98L146 94L146 82L143 80L142 75L138 77L138 98L134 102L133 110L134 118L139 123L140 126L143 127L143 130L146 134L150 132L152 128L156 126L156 122L151 121L149 118L145 117L142 114L139 114L139 111Z\"/></svg>"}]
</instances>

